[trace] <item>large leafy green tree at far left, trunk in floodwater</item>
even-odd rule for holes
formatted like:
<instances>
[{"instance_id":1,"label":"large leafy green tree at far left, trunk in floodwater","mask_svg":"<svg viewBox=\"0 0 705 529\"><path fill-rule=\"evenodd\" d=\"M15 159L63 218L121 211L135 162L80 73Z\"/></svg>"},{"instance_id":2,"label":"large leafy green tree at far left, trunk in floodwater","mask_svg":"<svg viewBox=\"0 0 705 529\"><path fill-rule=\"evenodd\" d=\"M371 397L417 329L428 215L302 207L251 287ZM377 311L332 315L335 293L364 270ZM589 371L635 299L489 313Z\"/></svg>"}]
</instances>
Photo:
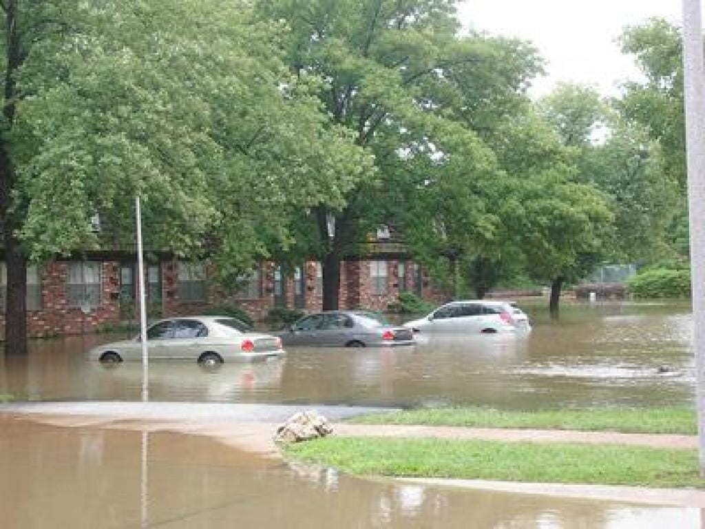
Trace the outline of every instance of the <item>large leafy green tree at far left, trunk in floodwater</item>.
<instances>
[{"instance_id":1,"label":"large leafy green tree at far left, trunk in floodwater","mask_svg":"<svg viewBox=\"0 0 705 529\"><path fill-rule=\"evenodd\" d=\"M342 207L372 170L329 123L285 28L216 0L5 0L0 221L6 351L26 350L25 265L132 243L208 255L221 279L286 246L298 208ZM98 213L104 229L94 233Z\"/></svg>"}]
</instances>

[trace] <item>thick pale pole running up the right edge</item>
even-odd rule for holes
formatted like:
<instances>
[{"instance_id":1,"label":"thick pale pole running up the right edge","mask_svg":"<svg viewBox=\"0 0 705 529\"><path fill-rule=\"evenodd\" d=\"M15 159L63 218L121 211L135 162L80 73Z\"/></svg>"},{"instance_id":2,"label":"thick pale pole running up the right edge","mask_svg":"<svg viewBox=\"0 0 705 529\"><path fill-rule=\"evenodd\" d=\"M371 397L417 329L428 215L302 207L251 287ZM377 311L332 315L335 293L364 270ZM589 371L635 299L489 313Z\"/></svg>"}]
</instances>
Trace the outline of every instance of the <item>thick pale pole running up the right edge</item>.
<instances>
[{"instance_id":1,"label":"thick pale pole running up the right edge","mask_svg":"<svg viewBox=\"0 0 705 529\"><path fill-rule=\"evenodd\" d=\"M705 68L700 0L683 0L685 135L700 475L705 476Z\"/></svg>"}]
</instances>

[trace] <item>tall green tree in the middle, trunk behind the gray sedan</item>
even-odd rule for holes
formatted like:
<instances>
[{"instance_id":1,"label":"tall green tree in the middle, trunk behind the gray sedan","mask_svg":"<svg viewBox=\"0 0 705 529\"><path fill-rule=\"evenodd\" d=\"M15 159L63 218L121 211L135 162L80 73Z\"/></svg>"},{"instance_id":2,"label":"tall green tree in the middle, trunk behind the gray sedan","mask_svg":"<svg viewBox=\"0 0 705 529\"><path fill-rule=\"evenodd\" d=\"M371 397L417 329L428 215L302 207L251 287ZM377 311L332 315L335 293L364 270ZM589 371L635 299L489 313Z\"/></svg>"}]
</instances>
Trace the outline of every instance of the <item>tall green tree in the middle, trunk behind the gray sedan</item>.
<instances>
[{"instance_id":1,"label":"tall green tree in the middle, trunk behind the gray sedan","mask_svg":"<svg viewBox=\"0 0 705 529\"><path fill-rule=\"evenodd\" d=\"M539 69L533 49L458 37L451 0L256 4L264 19L288 20L293 71L325 80L319 97L333 120L375 156L376 176L360 181L344 207L312 211L324 308L337 308L341 259L358 253L378 223L398 222L415 248L451 258L491 235L495 216L482 193L496 165L479 129ZM400 209L417 214L396 214ZM333 218L329 241L326 219Z\"/></svg>"}]
</instances>

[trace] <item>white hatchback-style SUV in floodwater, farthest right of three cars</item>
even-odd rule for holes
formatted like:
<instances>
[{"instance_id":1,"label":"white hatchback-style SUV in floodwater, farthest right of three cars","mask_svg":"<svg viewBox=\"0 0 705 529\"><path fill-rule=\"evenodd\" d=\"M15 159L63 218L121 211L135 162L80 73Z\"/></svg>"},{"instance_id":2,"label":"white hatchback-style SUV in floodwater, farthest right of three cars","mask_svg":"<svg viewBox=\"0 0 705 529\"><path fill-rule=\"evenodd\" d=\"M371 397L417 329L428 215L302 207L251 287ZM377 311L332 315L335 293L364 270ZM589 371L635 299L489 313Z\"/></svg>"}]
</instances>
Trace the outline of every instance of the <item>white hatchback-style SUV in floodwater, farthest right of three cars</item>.
<instances>
[{"instance_id":1,"label":"white hatchback-style SUV in floodwater, farthest right of three cars","mask_svg":"<svg viewBox=\"0 0 705 529\"><path fill-rule=\"evenodd\" d=\"M404 324L414 332L529 332L529 317L509 301L453 301Z\"/></svg>"}]
</instances>

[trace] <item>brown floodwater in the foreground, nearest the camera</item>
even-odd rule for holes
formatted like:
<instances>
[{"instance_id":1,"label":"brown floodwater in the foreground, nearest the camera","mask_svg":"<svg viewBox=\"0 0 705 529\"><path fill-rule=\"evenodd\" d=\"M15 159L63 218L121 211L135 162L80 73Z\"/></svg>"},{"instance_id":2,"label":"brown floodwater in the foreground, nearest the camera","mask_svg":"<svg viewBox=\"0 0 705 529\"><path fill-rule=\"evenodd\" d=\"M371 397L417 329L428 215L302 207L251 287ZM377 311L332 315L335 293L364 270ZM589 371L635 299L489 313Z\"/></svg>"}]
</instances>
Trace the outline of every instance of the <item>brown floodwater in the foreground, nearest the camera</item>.
<instances>
[{"instance_id":1,"label":"brown floodwater in the foreground, nearest the camera","mask_svg":"<svg viewBox=\"0 0 705 529\"><path fill-rule=\"evenodd\" d=\"M286 466L202 437L0 420L4 529L699 528L697 509L443 490Z\"/></svg>"}]
</instances>

